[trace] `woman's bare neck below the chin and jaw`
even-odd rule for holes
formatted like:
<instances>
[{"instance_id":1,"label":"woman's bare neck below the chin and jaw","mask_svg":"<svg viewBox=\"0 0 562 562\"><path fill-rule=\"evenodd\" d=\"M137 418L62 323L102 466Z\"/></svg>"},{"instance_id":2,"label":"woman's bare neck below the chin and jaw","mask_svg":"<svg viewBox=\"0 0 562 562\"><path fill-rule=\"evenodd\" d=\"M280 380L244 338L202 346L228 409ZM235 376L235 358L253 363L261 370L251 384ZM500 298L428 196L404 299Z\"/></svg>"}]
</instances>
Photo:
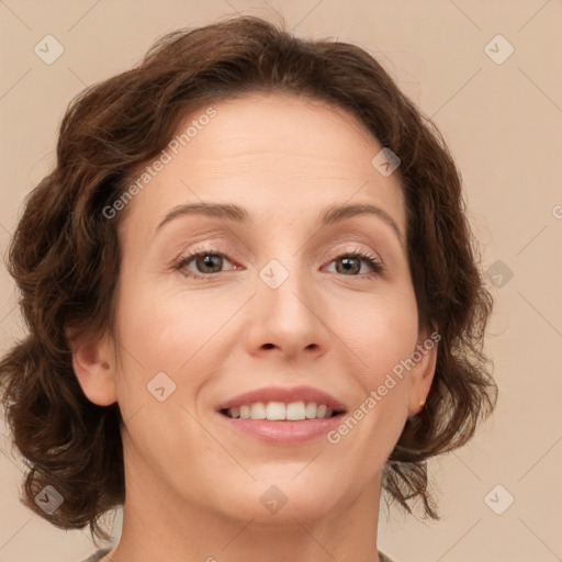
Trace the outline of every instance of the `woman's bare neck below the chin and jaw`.
<instances>
[{"instance_id":1,"label":"woman's bare neck below the chin and jaw","mask_svg":"<svg viewBox=\"0 0 562 562\"><path fill-rule=\"evenodd\" d=\"M380 474L379 474L380 475ZM236 518L179 498L161 482L127 480L119 544L103 562L379 562L380 477L329 513L303 514L286 504L276 514Z\"/></svg>"}]
</instances>

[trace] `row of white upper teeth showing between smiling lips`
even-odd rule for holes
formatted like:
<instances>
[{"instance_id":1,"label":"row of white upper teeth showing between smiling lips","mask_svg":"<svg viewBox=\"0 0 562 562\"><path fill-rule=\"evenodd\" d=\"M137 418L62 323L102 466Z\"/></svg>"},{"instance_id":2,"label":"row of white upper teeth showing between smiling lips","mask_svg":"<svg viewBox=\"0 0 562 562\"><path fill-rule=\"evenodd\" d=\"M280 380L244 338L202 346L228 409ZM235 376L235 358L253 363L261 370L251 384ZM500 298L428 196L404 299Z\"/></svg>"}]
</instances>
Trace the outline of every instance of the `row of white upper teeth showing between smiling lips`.
<instances>
[{"instance_id":1,"label":"row of white upper teeth showing between smiling lips","mask_svg":"<svg viewBox=\"0 0 562 562\"><path fill-rule=\"evenodd\" d=\"M270 420L290 420L315 419L331 417L334 411L326 404L316 404L315 402L305 403L291 402L256 402L254 404L244 404L234 406L226 413L228 417L239 417L241 419L270 419Z\"/></svg>"}]
</instances>

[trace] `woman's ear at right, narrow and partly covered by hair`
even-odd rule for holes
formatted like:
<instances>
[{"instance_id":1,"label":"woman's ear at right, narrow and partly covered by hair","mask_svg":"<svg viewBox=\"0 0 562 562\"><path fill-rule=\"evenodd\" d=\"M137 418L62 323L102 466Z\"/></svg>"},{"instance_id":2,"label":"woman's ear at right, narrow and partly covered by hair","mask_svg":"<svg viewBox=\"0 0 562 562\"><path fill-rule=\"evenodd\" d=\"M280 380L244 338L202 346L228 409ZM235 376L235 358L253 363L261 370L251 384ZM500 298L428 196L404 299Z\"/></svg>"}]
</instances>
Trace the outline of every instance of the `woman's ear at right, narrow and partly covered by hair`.
<instances>
[{"instance_id":1,"label":"woman's ear at right, narrow and partly covered by hair","mask_svg":"<svg viewBox=\"0 0 562 562\"><path fill-rule=\"evenodd\" d=\"M419 334L416 349L413 351L413 359L416 359L416 362L409 376L408 416L415 416L424 408L434 381L440 339L441 335L437 329L426 329Z\"/></svg>"}]
</instances>

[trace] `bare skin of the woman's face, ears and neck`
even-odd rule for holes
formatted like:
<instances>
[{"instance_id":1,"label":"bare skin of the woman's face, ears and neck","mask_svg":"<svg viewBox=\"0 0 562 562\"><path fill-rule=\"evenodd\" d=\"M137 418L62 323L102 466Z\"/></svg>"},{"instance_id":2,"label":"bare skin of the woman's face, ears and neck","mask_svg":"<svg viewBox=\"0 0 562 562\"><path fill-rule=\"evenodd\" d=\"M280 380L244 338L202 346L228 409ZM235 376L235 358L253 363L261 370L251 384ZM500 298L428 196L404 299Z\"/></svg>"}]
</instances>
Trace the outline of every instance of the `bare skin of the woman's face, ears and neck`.
<instances>
[{"instance_id":1,"label":"bare skin of the woman's face, ears and neck","mask_svg":"<svg viewBox=\"0 0 562 562\"><path fill-rule=\"evenodd\" d=\"M371 165L382 146L345 110L288 94L213 106L128 203L116 330L74 353L88 398L117 401L124 419L123 532L103 561L375 562L382 469L429 392L437 346L337 445L261 442L214 407L260 386L308 384L353 411L428 339L394 231L373 215L317 223L329 204L367 202L405 239L398 175ZM244 206L252 222L184 215L155 234L172 207L202 201ZM226 256L218 273L195 260L184 270L200 279L173 269L201 243ZM338 268L357 250L385 271ZM271 259L289 272L274 290L259 277ZM176 384L164 402L146 387L161 371ZM288 498L274 514L260 502L271 485Z\"/></svg>"}]
</instances>

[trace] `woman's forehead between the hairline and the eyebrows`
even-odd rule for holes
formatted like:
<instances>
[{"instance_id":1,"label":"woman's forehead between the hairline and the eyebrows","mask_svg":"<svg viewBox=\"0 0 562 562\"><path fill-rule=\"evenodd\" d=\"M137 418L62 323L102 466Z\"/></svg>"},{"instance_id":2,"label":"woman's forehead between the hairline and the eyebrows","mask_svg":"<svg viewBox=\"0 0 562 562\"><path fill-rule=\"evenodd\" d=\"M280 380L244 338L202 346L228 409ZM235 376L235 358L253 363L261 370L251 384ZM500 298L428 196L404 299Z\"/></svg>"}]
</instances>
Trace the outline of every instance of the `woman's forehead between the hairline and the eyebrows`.
<instances>
[{"instance_id":1,"label":"woman's forehead between the hairline and the eyebrows","mask_svg":"<svg viewBox=\"0 0 562 562\"><path fill-rule=\"evenodd\" d=\"M214 116L203 119L210 108ZM165 149L169 161L128 204L126 222L154 231L186 203L237 202L252 216L312 220L336 202L372 202L404 232L398 173L384 177L373 167L382 145L344 109L256 94L191 112L173 140Z\"/></svg>"}]
</instances>

